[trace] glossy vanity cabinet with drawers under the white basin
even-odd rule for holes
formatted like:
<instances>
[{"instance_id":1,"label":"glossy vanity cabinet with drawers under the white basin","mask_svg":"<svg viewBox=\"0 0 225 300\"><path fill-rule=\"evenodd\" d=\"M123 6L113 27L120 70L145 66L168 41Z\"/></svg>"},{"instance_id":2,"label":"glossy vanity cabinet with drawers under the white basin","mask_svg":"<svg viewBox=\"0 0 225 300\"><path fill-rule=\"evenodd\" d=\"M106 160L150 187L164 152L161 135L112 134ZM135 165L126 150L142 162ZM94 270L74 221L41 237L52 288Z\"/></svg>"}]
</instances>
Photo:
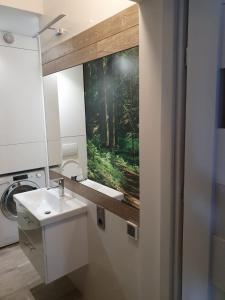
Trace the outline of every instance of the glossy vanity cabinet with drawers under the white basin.
<instances>
[{"instance_id":1,"label":"glossy vanity cabinet with drawers under the white basin","mask_svg":"<svg viewBox=\"0 0 225 300\"><path fill-rule=\"evenodd\" d=\"M19 242L45 283L88 264L86 213L41 226L17 202Z\"/></svg>"}]
</instances>

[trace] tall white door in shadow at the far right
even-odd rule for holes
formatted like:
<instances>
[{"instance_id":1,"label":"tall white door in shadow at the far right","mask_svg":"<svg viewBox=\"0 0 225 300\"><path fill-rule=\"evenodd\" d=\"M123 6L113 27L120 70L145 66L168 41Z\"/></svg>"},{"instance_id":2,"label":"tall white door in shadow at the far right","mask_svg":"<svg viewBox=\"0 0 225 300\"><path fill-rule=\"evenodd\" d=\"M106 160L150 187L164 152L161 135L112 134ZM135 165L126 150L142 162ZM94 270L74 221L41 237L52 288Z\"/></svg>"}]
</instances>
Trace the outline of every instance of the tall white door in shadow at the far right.
<instances>
[{"instance_id":1,"label":"tall white door in shadow at the far right","mask_svg":"<svg viewBox=\"0 0 225 300\"><path fill-rule=\"evenodd\" d=\"M189 1L182 300L224 299L212 280L222 8Z\"/></svg>"}]
</instances>

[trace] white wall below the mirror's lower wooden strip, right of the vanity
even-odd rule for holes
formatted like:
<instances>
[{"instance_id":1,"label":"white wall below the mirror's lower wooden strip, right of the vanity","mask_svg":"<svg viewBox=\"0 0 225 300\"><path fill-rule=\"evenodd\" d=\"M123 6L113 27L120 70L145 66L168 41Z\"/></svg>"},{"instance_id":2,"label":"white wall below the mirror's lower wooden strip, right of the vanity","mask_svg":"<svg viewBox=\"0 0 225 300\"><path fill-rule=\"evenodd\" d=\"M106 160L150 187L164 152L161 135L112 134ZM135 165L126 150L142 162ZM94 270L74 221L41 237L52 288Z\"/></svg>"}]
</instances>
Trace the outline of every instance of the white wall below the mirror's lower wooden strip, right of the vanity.
<instances>
[{"instance_id":1,"label":"white wall below the mirror's lower wooden strip, right of the vanity","mask_svg":"<svg viewBox=\"0 0 225 300\"><path fill-rule=\"evenodd\" d=\"M70 278L87 300L144 300L138 295L139 242L127 236L126 221L109 211L105 231L98 228L96 205L87 204L89 264Z\"/></svg>"}]
</instances>

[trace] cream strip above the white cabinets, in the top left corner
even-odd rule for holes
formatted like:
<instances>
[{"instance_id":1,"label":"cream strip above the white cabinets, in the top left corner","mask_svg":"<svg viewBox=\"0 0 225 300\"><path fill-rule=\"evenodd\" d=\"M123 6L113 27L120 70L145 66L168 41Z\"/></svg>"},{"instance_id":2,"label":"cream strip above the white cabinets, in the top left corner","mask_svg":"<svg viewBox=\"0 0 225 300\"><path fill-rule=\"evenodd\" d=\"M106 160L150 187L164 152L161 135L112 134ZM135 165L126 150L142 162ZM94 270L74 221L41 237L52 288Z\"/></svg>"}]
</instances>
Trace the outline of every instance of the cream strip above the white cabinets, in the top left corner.
<instances>
[{"instance_id":1,"label":"cream strip above the white cabinets, in the top left corner","mask_svg":"<svg viewBox=\"0 0 225 300\"><path fill-rule=\"evenodd\" d=\"M0 5L37 14L43 13L43 0L0 0Z\"/></svg>"}]
</instances>

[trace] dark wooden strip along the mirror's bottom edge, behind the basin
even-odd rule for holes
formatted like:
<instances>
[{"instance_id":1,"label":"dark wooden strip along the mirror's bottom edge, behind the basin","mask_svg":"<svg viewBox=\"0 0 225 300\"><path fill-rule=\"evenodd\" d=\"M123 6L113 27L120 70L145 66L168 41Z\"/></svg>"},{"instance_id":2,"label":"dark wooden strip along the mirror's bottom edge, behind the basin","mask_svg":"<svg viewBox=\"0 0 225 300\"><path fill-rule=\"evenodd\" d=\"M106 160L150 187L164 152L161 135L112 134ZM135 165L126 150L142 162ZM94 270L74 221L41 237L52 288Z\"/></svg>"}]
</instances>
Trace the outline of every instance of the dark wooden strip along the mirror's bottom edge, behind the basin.
<instances>
[{"instance_id":1,"label":"dark wooden strip along the mirror's bottom edge, behind the basin","mask_svg":"<svg viewBox=\"0 0 225 300\"><path fill-rule=\"evenodd\" d=\"M126 203L120 202L111 198L105 194L102 194L90 187L87 187L79 182L72 181L71 179L63 176L54 171L50 171L50 179L64 177L65 187L74 193L88 199L89 201L95 203L96 205L101 205L105 209L109 210L111 213L119 216L124 220L131 221L139 225L139 210L129 206Z\"/></svg>"}]
</instances>

